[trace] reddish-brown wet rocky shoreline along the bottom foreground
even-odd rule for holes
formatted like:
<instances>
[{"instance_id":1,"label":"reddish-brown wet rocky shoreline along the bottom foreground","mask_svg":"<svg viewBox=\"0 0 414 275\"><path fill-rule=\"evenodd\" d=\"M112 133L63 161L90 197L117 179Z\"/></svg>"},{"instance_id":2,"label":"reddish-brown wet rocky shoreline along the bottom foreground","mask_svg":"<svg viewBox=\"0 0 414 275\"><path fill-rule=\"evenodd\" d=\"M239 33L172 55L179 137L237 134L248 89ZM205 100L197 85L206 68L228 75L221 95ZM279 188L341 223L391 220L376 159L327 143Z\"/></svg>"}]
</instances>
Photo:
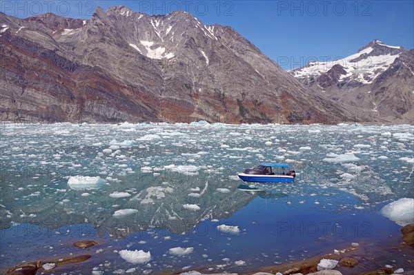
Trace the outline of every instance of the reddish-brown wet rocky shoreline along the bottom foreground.
<instances>
[{"instance_id":1,"label":"reddish-brown wet rocky shoreline along the bottom foreground","mask_svg":"<svg viewBox=\"0 0 414 275\"><path fill-rule=\"evenodd\" d=\"M382 251L378 251L377 245L351 243L349 247L341 250L335 249L331 254L315 256L294 263L262 267L257 272L243 273L243 275L414 275L414 224L406 225L400 231L402 233L403 243L400 243L398 247L384 247ZM86 240L77 241L73 243L73 246L79 249L85 249L97 244L96 241ZM398 266L398 264L393 266L389 263L384 263L384 261L391 259L391 255L395 256L397 252L400 252L401 256L406 257L408 269L407 266L404 266L404 269ZM7 269L6 275L43 274L43 272L49 270L57 271L55 268L58 267L87 261L91 257L92 255L90 254L79 254L22 263L21 265ZM213 275L210 273L210 270L210 267L199 267L190 272L165 272L163 275ZM135 274L135 272L132 273ZM236 273L226 273L226 275L229 274L239 275ZM215 273L215 275L220 274Z\"/></svg>"}]
</instances>

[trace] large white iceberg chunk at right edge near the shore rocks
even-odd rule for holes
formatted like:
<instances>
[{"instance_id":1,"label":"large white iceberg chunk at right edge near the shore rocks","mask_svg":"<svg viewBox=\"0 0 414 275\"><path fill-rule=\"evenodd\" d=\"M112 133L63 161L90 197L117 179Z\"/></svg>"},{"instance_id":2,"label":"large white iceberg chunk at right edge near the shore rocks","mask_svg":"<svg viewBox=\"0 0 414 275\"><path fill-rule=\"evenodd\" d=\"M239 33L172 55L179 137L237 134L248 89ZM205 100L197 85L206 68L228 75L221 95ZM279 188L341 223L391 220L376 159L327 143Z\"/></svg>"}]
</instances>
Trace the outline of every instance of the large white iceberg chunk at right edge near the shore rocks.
<instances>
[{"instance_id":1,"label":"large white iceberg chunk at right edge near the shore rocks","mask_svg":"<svg viewBox=\"0 0 414 275\"><path fill-rule=\"evenodd\" d=\"M414 223L414 198L400 198L382 207L381 212L397 225Z\"/></svg>"}]
</instances>

